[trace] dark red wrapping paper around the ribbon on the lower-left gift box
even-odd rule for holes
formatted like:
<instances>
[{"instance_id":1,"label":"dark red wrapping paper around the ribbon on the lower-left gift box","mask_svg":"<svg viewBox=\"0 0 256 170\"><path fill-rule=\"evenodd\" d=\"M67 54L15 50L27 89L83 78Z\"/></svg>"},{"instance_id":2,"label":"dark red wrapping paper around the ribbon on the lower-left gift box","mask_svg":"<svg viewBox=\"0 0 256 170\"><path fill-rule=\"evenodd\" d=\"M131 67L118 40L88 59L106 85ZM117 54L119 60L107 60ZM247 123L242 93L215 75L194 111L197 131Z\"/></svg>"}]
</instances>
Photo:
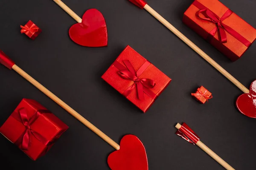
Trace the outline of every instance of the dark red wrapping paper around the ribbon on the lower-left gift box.
<instances>
[{"instance_id":1,"label":"dark red wrapping paper around the ribbon on the lower-left gift box","mask_svg":"<svg viewBox=\"0 0 256 170\"><path fill-rule=\"evenodd\" d=\"M17 113L21 108L25 108L30 119L34 113L38 110L47 110L44 106L40 105L35 100L23 99L17 106L12 114ZM68 126L61 122L54 114L44 113L38 117L38 119L31 125L31 129L44 136L49 141L54 141L61 136L64 131L68 129ZM0 133L3 134L12 143L15 143L17 139L23 134L26 127L12 115L6 120L6 122L0 127ZM53 144L46 146L42 142L38 141L35 136L31 135L31 142L28 150L23 150L32 160L36 160L43 156ZM21 144L18 146L21 149Z\"/></svg>"}]
</instances>

